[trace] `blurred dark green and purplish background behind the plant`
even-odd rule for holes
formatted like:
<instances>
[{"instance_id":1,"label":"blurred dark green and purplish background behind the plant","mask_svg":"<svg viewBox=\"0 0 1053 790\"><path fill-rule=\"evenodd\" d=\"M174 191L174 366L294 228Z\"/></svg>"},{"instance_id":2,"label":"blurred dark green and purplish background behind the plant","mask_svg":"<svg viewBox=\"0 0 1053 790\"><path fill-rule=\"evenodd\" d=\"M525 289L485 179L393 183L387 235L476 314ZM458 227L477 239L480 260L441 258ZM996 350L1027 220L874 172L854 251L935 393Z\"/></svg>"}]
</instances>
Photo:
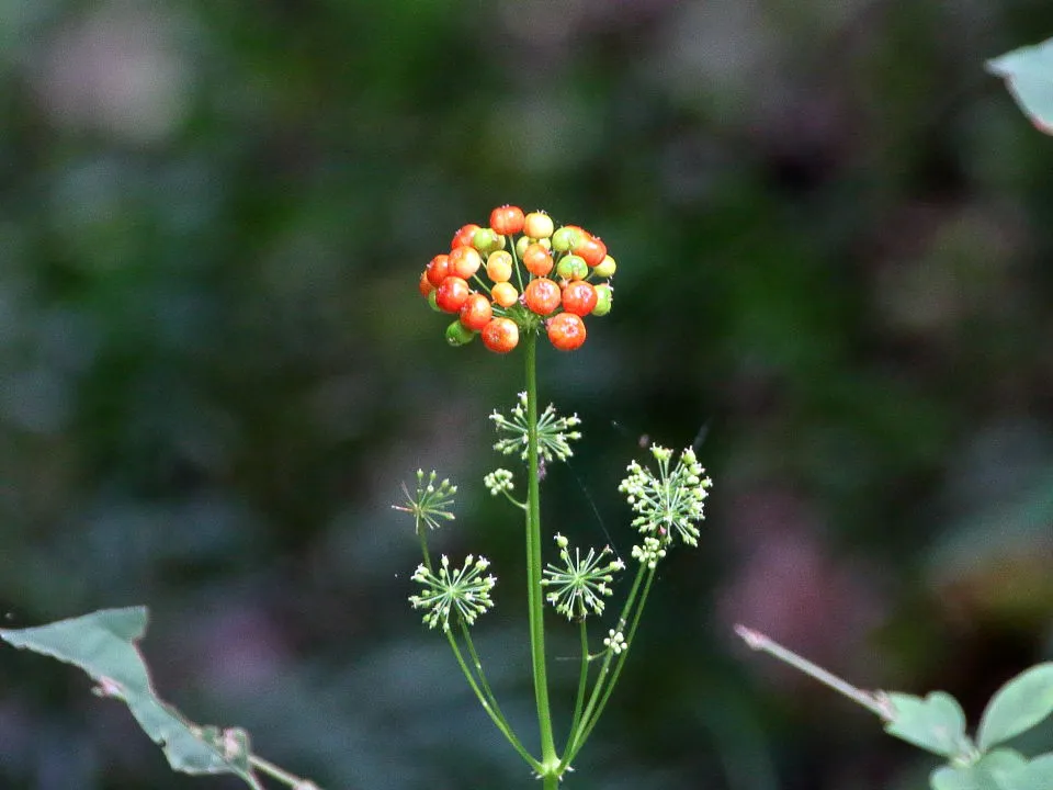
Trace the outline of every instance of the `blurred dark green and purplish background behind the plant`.
<instances>
[{"instance_id":1,"label":"blurred dark green and purplish background behind the plant","mask_svg":"<svg viewBox=\"0 0 1053 790\"><path fill-rule=\"evenodd\" d=\"M566 786L926 787L731 629L973 721L1053 654L1053 140L983 71L1051 31L1037 0L5 0L4 624L148 605L161 696L329 790L531 787L389 508L418 466L460 484L434 545L494 561L477 633L528 727L519 518L482 486L520 360L417 293L513 202L620 264L541 354L586 430L546 524L627 554L644 437L715 482ZM10 648L0 786L240 787Z\"/></svg>"}]
</instances>

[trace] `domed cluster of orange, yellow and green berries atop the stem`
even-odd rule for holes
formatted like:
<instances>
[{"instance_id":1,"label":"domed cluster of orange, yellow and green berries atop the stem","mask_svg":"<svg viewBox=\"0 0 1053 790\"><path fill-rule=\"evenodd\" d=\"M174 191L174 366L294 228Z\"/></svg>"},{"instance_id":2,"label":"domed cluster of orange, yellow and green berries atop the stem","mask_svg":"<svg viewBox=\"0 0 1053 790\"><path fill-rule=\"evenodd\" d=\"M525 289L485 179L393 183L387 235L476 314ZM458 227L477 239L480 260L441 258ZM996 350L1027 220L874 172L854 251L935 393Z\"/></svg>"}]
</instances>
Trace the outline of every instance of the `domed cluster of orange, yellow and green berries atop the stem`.
<instances>
[{"instance_id":1,"label":"domed cluster of orange, yellow and green berries atop the stem","mask_svg":"<svg viewBox=\"0 0 1053 790\"><path fill-rule=\"evenodd\" d=\"M544 328L553 346L574 351L585 342L582 318L610 313L615 268L588 230L505 205L490 212L489 227L457 230L450 252L421 273L420 293L434 309L457 315L446 327L451 346L480 335L490 351L508 353L520 332Z\"/></svg>"}]
</instances>

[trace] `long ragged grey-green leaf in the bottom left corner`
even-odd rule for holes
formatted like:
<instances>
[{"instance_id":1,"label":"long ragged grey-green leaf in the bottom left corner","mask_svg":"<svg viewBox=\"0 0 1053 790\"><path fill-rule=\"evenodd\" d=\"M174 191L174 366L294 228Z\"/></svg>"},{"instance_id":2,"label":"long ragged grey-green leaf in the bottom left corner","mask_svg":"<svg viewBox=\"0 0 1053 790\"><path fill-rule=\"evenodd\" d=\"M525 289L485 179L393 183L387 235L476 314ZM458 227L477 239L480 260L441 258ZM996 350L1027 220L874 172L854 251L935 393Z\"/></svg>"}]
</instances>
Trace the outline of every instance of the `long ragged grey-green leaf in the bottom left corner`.
<instances>
[{"instance_id":1,"label":"long ragged grey-green leaf in the bottom left corner","mask_svg":"<svg viewBox=\"0 0 1053 790\"><path fill-rule=\"evenodd\" d=\"M234 774L259 788L249 767L244 731L196 726L154 693L149 672L135 645L146 633L146 622L145 607L103 609L38 628L0 629L0 639L88 673L99 684L97 693L128 706L146 734L165 751L173 770Z\"/></svg>"}]
</instances>

